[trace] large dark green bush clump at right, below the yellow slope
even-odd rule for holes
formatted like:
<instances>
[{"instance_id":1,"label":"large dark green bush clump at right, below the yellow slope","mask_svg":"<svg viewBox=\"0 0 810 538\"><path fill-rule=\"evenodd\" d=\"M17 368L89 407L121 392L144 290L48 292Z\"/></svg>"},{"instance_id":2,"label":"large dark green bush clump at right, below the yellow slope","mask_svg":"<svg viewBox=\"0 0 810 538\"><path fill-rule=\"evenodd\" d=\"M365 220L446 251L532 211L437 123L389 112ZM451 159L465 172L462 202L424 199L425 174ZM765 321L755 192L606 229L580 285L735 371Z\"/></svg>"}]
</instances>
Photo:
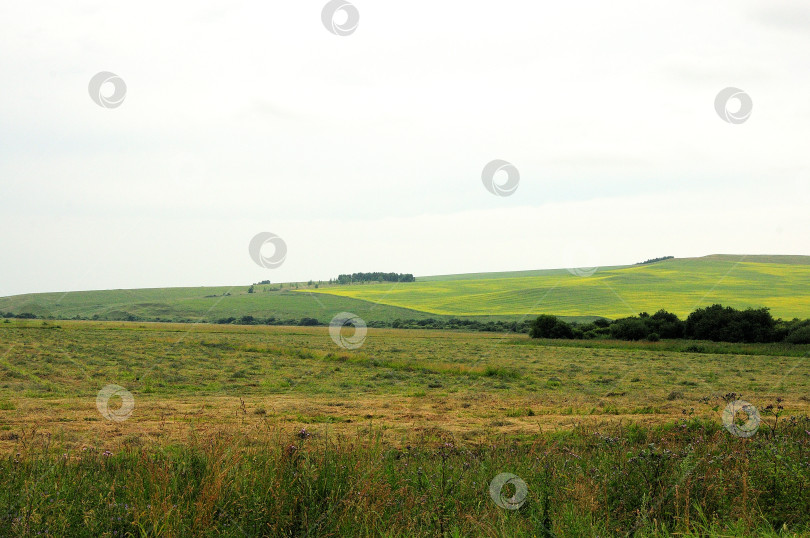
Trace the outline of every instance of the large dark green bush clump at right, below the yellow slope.
<instances>
[{"instance_id":1,"label":"large dark green bush clump at right, below the yellow slope","mask_svg":"<svg viewBox=\"0 0 810 538\"><path fill-rule=\"evenodd\" d=\"M615 321L597 320L584 325L568 324L555 316L539 316L532 322L532 338L615 338L650 340L661 338L713 340L715 342L788 342L810 344L810 320L774 319L767 308L738 310L715 304L698 308L685 320L659 310Z\"/></svg>"}]
</instances>

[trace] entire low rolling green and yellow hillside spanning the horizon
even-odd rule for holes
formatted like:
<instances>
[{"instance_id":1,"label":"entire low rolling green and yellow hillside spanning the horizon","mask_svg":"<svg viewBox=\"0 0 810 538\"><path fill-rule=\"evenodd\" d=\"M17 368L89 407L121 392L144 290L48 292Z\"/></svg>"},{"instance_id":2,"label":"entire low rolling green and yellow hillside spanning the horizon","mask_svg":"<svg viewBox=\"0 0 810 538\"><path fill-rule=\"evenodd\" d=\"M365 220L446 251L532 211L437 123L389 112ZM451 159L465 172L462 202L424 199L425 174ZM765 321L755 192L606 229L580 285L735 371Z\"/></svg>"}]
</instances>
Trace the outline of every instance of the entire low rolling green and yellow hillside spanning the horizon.
<instances>
[{"instance_id":1,"label":"entire low rolling green and yellow hillside spanning the horizon","mask_svg":"<svg viewBox=\"0 0 810 538\"><path fill-rule=\"evenodd\" d=\"M274 316L327 323L338 312L367 322L429 317L618 318L666 308L685 316L700 306L767 306L776 317L810 317L810 256L712 255L614 266L419 277L411 283L347 286L154 288L39 293L0 298L0 312L41 317L216 321Z\"/></svg>"}]
</instances>

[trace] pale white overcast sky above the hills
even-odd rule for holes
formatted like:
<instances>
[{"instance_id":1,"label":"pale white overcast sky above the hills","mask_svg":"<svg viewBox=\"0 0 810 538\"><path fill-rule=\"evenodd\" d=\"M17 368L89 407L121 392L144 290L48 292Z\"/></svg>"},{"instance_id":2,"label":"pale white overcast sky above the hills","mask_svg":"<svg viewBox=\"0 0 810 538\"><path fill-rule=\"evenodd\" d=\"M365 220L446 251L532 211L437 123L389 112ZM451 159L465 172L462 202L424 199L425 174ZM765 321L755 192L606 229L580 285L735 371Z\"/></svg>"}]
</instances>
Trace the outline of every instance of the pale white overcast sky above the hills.
<instances>
[{"instance_id":1,"label":"pale white overcast sky above the hills","mask_svg":"<svg viewBox=\"0 0 810 538\"><path fill-rule=\"evenodd\" d=\"M806 2L325 3L0 4L0 296L810 254Z\"/></svg>"}]
</instances>

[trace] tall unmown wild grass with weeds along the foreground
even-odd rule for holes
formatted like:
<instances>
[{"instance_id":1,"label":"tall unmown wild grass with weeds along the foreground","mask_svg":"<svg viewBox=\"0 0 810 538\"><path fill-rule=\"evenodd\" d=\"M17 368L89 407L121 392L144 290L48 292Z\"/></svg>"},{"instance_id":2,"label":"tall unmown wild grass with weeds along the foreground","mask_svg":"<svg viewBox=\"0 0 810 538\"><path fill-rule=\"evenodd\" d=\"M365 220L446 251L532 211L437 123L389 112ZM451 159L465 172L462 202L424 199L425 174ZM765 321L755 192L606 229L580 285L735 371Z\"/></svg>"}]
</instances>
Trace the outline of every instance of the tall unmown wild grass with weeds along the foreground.
<instances>
[{"instance_id":1,"label":"tall unmown wild grass with weeds along the foreground","mask_svg":"<svg viewBox=\"0 0 810 538\"><path fill-rule=\"evenodd\" d=\"M464 446L267 432L0 460L3 536L807 535L810 421L578 427ZM498 507L501 472L525 481ZM506 497L513 492L506 491Z\"/></svg>"}]
</instances>

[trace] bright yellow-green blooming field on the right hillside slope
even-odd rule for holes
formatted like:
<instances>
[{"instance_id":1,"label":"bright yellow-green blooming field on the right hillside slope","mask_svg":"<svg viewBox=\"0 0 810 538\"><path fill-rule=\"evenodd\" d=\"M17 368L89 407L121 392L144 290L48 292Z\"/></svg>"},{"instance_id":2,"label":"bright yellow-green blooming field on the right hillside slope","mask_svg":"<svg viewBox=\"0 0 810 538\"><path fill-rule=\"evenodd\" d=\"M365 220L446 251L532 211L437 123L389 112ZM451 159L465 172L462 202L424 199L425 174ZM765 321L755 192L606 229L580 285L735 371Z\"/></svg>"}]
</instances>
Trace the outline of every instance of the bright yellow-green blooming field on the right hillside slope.
<instances>
[{"instance_id":1,"label":"bright yellow-green blooming field on the right hillside slope","mask_svg":"<svg viewBox=\"0 0 810 538\"><path fill-rule=\"evenodd\" d=\"M528 273L528 274L527 274ZM775 317L810 317L810 257L708 256L596 270L452 275L406 284L324 288L341 295L440 315L620 318L665 308L686 316L721 303L771 308Z\"/></svg>"}]
</instances>

